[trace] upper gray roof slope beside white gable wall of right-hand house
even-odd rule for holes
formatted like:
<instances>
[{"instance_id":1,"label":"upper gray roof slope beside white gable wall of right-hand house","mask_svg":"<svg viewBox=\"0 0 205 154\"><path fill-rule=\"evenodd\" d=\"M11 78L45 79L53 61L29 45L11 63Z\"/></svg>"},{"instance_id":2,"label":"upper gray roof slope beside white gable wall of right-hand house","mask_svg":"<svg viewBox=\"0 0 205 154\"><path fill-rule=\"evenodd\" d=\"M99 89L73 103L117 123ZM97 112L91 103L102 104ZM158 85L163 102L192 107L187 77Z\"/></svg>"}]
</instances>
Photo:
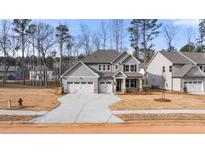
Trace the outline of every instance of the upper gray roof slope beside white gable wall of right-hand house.
<instances>
[{"instance_id":1,"label":"upper gray roof slope beside white gable wall of right-hand house","mask_svg":"<svg viewBox=\"0 0 205 154\"><path fill-rule=\"evenodd\" d=\"M192 61L190 61L188 58L184 57L178 52L160 51L160 53L173 64L193 64Z\"/></svg>"}]
</instances>

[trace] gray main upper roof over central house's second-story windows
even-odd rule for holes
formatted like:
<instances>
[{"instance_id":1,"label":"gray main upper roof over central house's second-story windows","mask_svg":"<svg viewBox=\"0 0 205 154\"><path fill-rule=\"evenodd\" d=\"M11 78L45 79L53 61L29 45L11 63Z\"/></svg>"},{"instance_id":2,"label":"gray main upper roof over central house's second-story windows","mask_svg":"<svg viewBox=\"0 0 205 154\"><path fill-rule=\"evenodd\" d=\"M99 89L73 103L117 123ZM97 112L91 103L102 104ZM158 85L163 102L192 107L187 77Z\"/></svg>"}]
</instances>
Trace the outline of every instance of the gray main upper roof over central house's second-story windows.
<instances>
[{"instance_id":1,"label":"gray main upper roof over central house's second-story windows","mask_svg":"<svg viewBox=\"0 0 205 154\"><path fill-rule=\"evenodd\" d=\"M115 50L98 50L82 59L84 63L111 63L121 53Z\"/></svg>"}]
</instances>

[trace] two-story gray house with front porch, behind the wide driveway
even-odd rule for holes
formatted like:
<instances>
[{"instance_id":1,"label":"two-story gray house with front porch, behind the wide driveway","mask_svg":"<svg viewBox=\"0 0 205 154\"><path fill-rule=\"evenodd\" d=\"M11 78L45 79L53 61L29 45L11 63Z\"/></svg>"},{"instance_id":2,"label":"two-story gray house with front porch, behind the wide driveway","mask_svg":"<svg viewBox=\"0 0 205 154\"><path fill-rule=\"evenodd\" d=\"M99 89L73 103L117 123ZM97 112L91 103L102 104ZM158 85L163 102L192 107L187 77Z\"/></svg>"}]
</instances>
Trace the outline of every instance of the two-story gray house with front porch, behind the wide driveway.
<instances>
[{"instance_id":1,"label":"two-story gray house with front porch, behind the wide driveway","mask_svg":"<svg viewBox=\"0 0 205 154\"><path fill-rule=\"evenodd\" d=\"M99 50L76 63L62 76L68 93L115 93L142 89L140 62L127 52Z\"/></svg>"}]
</instances>

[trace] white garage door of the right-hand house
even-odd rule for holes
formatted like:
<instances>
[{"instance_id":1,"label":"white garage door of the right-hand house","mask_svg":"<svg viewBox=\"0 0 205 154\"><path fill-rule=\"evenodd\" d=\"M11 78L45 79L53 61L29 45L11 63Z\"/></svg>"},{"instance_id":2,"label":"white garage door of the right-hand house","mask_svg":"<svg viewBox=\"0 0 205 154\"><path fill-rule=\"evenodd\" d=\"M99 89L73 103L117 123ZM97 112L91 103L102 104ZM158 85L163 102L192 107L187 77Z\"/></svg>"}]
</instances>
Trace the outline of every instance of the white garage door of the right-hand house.
<instances>
[{"instance_id":1,"label":"white garage door of the right-hand house","mask_svg":"<svg viewBox=\"0 0 205 154\"><path fill-rule=\"evenodd\" d=\"M187 92L201 92L203 91L202 81L187 81L184 82Z\"/></svg>"}]
</instances>

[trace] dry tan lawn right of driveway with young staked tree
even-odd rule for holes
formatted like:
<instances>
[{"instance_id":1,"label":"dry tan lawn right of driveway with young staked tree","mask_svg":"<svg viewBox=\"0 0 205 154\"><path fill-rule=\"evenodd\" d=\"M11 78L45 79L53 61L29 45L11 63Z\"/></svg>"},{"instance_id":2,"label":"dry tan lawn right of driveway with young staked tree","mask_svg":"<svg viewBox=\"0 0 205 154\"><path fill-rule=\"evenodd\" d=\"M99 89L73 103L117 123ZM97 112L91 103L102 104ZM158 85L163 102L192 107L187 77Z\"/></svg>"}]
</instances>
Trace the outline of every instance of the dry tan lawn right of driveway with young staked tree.
<instances>
[{"instance_id":1,"label":"dry tan lawn right of driveway with young staked tree","mask_svg":"<svg viewBox=\"0 0 205 154\"><path fill-rule=\"evenodd\" d=\"M205 109L205 95L191 95L166 92L165 98L171 102L157 102L161 92L147 95L127 94L119 95L122 99L110 106L112 110L147 110L147 109Z\"/></svg>"}]
</instances>

